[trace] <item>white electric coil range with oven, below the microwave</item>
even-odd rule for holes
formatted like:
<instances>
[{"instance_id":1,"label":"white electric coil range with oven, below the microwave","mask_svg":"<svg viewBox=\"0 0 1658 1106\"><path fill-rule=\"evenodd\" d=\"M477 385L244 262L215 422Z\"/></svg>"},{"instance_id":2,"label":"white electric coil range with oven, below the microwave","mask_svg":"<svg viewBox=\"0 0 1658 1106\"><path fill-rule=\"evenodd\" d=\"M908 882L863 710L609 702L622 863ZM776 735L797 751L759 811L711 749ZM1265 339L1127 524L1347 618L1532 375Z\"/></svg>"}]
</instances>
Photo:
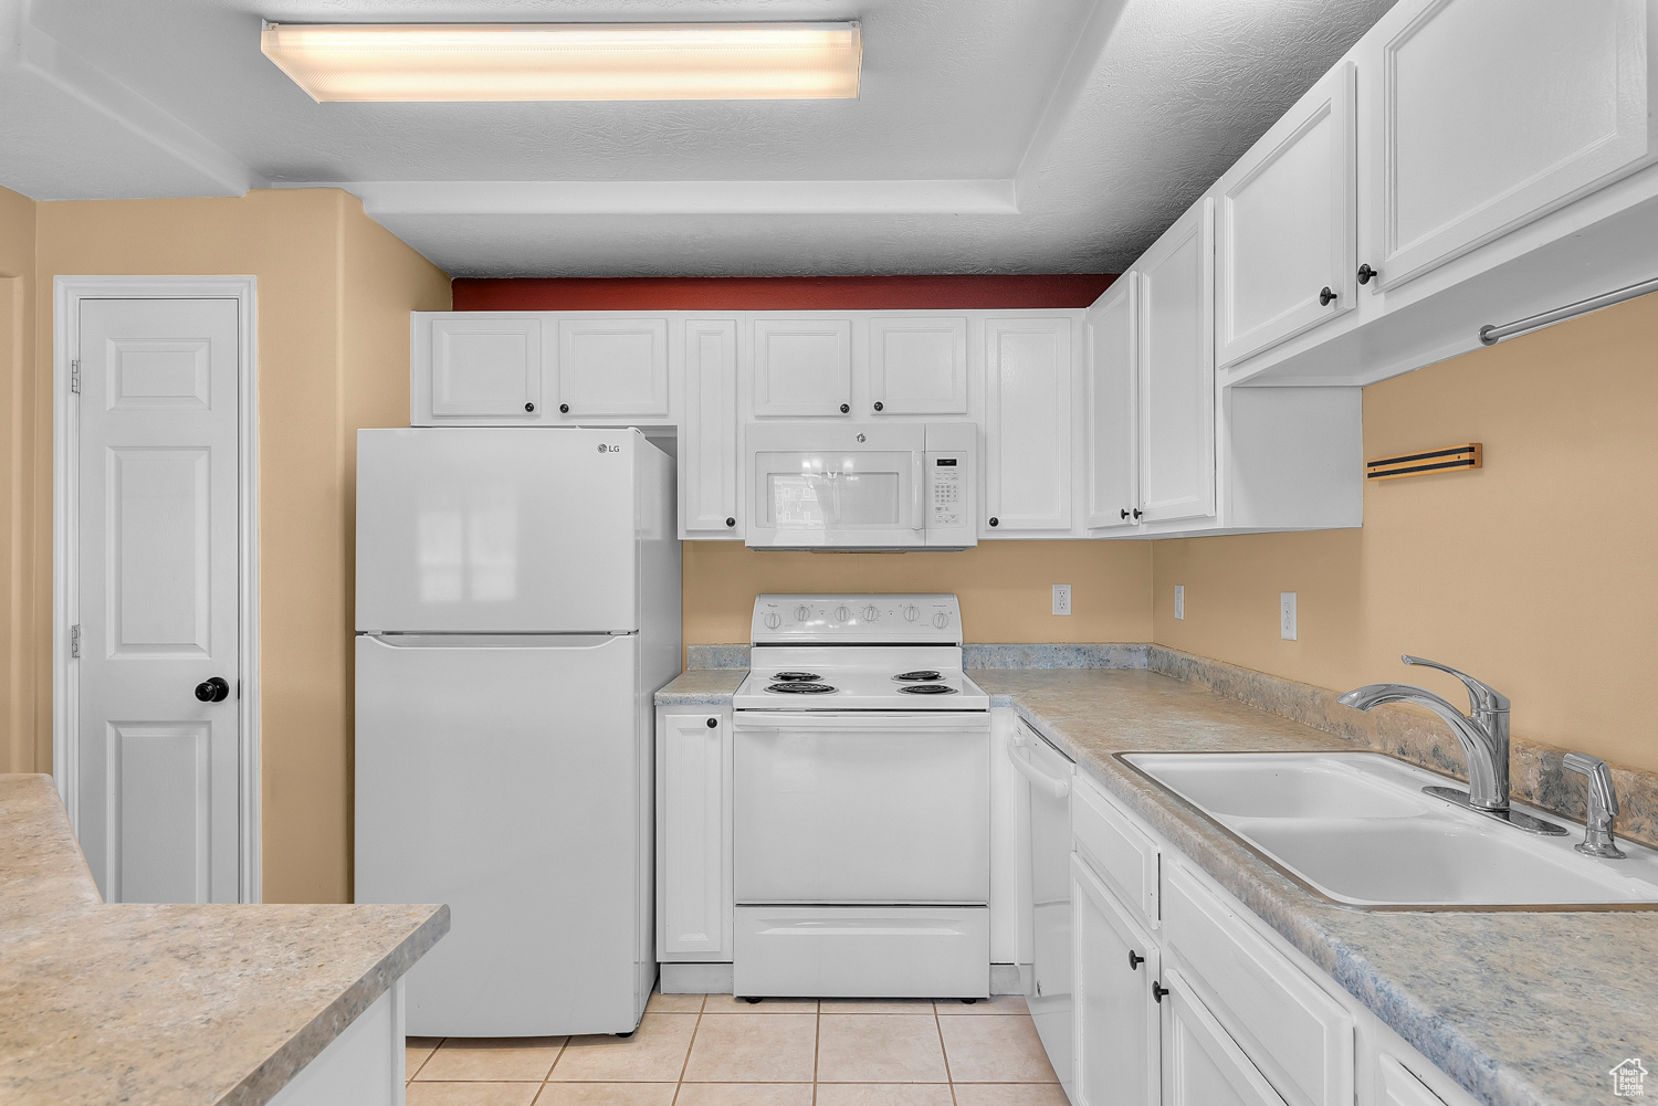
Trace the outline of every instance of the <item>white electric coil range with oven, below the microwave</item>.
<instances>
[{"instance_id":1,"label":"white electric coil range with oven, below the microwave","mask_svg":"<svg viewBox=\"0 0 1658 1106\"><path fill-rule=\"evenodd\" d=\"M955 595L761 595L733 701L733 992L990 993L990 696Z\"/></svg>"}]
</instances>

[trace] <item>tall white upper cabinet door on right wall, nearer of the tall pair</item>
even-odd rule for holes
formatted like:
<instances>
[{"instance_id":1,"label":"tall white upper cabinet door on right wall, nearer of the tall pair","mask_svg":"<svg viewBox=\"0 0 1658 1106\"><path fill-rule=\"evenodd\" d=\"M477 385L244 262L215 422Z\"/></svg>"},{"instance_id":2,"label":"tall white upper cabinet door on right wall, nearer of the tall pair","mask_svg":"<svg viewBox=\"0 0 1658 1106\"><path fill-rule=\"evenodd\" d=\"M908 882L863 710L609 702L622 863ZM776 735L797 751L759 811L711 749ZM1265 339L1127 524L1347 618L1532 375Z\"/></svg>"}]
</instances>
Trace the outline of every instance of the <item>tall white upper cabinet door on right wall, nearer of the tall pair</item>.
<instances>
[{"instance_id":1,"label":"tall white upper cabinet door on right wall, nearer of the tall pair","mask_svg":"<svg viewBox=\"0 0 1658 1106\"><path fill-rule=\"evenodd\" d=\"M1214 209L1197 201L1134 265L1147 522L1215 512Z\"/></svg>"}]
</instances>

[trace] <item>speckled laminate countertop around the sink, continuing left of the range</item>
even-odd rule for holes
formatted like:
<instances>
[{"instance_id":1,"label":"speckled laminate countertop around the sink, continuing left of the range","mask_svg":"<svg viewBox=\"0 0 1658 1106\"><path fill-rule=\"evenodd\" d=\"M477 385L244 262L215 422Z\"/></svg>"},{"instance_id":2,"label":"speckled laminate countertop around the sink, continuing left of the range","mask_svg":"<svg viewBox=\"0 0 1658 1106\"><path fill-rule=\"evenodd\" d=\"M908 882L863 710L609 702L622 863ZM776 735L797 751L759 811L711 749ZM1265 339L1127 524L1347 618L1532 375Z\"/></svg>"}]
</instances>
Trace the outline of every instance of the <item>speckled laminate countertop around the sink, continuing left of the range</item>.
<instances>
[{"instance_id":1,"label":"speckled laminate countertop around the sink, continuing left of the range","mask_svg":"<svg viewBox=\"0 0 1658 1106\"><path fill-rule=\"evenodd\" d=\"M681 680L695 677L708 695L710 675L691 672ZM718 675L734 688L744 673ZM1612 1096L1607 1071L1628 1056L1658 1056L1658 912L1338 907L1113 754L1356 746L1144 668L978 668L968 675L990 691L991 705L1011 705L1477 1099L1492 1106L1628 1101ZM678 683L663 693L676 693Z\"/></svg>"}]
</instances>

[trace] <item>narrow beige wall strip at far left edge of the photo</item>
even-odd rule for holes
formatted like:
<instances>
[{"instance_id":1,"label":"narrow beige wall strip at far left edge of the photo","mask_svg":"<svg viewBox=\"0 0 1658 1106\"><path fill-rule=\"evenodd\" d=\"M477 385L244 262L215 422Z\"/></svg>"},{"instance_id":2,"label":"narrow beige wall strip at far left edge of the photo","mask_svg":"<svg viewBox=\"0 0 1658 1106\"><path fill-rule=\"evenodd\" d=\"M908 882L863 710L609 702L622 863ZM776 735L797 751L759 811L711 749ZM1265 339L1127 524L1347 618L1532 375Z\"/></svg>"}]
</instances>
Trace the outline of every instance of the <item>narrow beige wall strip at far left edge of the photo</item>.
<instances>
[{"instance_id":1,"label":"narrow beige wall strip at far left edge of the photo","mask_svg":"<svg viewBox=\"0 0 1658 1106\"><path fill-rule=\"evenodd\" d=\"M51 529L35 527L36 496L51 496L51 423L50 410L38 418L30 371L35 211L35 201L0 187L0 771L23 773L51 763L51 672L41 663L51 638L36 617L36 604L51 602L50 579L45 594L36 587L38 565L50 572ZM48 444L36 449L40 441Z\"/></svg>"}]
</instances>

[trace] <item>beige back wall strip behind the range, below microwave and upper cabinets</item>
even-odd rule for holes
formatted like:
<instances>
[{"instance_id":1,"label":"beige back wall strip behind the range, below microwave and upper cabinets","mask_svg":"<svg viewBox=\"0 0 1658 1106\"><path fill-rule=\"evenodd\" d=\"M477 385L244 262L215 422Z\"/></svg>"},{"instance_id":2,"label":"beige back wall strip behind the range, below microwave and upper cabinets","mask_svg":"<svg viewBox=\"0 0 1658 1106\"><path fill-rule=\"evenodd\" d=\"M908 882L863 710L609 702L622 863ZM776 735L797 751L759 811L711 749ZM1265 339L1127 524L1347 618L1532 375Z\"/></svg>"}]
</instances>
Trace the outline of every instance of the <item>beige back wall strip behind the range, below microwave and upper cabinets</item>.
<instances>
[{"instance_id":1,"label":"beige back wall strip behind the range, below microwave and upper cabinets","mask_svg":"<svg viewBox=\"0 0 1658 1106\"><path fill-rule=\"evenodd\" d=\"M685 642L746 642L763 592L955 592L970 642L1144 642L1149 542L982 542L963 552L756 552L685 544ZM1053 585L1071 585L1068 617Z\"/></svg>"}]
</instances>

